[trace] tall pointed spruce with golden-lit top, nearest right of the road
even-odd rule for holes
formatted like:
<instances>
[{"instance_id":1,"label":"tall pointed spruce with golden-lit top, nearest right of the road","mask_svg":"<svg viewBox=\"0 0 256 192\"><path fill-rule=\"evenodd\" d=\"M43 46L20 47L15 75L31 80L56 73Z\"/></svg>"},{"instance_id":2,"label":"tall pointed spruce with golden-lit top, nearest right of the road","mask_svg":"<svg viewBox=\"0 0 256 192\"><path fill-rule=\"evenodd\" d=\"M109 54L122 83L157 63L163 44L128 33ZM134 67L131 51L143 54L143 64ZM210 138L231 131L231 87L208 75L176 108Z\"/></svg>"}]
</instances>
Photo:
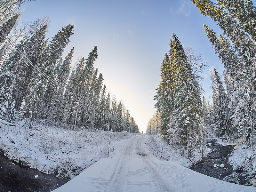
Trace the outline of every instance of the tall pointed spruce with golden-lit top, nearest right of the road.
<instances>
[{"instance_id":1,"label":"tall pointed spruce with golden-lit top, nearest right of the road","mask_svg":"<svg viewBox=\"0 0 256 192\"><path fill-rule=\"evenodd\" d=\"M193 78L191 66L180 44L180 40L173 34L170 41L170 61L173 78L173 95L178 127L183 129L183 143L188 150L188 159L192 157L193 131L201 122L202 101L198 83ZM195 131L194 131L195 132Z\"/></svg>"}]
</instances>

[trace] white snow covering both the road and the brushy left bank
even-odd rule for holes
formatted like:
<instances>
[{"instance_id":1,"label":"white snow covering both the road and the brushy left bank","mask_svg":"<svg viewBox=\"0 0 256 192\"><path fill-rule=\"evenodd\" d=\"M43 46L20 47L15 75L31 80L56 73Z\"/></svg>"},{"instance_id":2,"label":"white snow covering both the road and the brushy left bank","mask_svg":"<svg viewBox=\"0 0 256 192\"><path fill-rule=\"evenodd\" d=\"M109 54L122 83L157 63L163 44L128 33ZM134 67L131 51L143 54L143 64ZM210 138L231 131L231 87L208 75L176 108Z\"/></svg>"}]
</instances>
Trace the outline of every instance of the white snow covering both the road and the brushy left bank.
<instances>
[{"instance_id":1,"label":"white snow covering both the road and the brushy left bank","mask_svg":"<svg viewBox=\"0 0 256 192\"><path fill-rule=\"evenodd\" d=\"M149 148L152 136L112 132L107 157L107 132L43 126L29 130L27 124L25 121L14 126L1 124L0 150L10 159L23 161L32 168L48 173L58 171L73 178L53 192L255 191L254 187L217 180L180 165L191 162L181 157L176 159L174 150L167 153L165 142L164 155L168 161L161 159L157 148L154 154ZM156 146L160 140L156 138Z\"/></svg>"}]
</instances>

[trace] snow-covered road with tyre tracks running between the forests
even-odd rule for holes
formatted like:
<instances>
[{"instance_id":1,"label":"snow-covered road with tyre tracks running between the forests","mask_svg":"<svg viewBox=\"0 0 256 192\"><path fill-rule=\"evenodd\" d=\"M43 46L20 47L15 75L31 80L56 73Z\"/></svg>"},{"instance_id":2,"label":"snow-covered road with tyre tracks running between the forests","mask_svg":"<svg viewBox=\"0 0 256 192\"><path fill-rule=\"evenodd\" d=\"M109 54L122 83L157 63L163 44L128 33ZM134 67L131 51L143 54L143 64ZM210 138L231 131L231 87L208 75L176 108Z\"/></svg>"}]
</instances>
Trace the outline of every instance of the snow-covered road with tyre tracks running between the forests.
<instances>
[{"instance_id":1,"label":"snow-covered road with tyre tracks running between the forests","mask_svg":"<svg viewBox=\"0 0 256 192\"><path fill-rule=\"evenodd\" d=\"M147 135L113 143L115 152L102 158L53 192L84 191L256 191L194 172L178 163L153 156L146 148Z\"/></svg>"}]
</instances>

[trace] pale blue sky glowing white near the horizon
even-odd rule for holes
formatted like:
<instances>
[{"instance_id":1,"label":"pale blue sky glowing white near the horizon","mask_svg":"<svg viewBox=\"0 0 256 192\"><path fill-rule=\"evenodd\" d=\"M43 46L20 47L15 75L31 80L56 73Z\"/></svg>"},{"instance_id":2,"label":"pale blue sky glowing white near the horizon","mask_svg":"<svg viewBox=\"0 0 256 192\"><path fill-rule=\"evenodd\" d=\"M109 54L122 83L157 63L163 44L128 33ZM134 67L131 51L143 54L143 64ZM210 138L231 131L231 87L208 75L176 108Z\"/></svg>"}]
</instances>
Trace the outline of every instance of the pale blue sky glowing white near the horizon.
<instances>
[{"instance_id":1,"label":"pale blue sky glowing white near the horizon","mask_svg":"<svg viewBox=\"0 0 256 192\"><path fill-rule=\"evenodd\" d=\"M35 0L24 5L20 22L43 16L50 16L51 20L46 38L51 39L68 24L75 25L63 52L65 57L75 47L73 64L80 56L87 58L97 46L94 68L102 73L107 91L131 111L141 131L146 132L156 111L154 96L160 81L160 64L173 33L182 45L191 46L208 63L202 85L203 95L211 102L210 69L223 71L223 66L203 24L217 34L222 31L190 0Z\"/></svg>"}]
</instances>

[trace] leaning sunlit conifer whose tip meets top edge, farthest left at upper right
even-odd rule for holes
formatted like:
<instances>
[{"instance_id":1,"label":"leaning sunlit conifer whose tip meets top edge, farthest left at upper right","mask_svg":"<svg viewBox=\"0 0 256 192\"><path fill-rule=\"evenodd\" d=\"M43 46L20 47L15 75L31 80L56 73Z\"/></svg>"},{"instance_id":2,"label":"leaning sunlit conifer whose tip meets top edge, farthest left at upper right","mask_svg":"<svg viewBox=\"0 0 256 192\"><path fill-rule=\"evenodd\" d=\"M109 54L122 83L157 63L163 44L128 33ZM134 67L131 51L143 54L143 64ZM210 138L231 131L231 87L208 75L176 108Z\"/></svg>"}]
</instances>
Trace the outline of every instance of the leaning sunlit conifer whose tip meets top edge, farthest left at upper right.
<instances>
[{"instance_id":1,"label":"leaning sunlit conifer whose tip meets top edge, farthest left at upper right","mask_svg":"<svg viewBox=\"0 0 256 192\"><path fill-rule=\"evenodd\" d=\"M247 69L247 76L256 84L256 45L246 33L245 27L238 20L229 16L223 7L217 6L210 0L191 0L204 16L211 17L229 37L235 50L243 59Z\"/></svg>"}]
</instances>

